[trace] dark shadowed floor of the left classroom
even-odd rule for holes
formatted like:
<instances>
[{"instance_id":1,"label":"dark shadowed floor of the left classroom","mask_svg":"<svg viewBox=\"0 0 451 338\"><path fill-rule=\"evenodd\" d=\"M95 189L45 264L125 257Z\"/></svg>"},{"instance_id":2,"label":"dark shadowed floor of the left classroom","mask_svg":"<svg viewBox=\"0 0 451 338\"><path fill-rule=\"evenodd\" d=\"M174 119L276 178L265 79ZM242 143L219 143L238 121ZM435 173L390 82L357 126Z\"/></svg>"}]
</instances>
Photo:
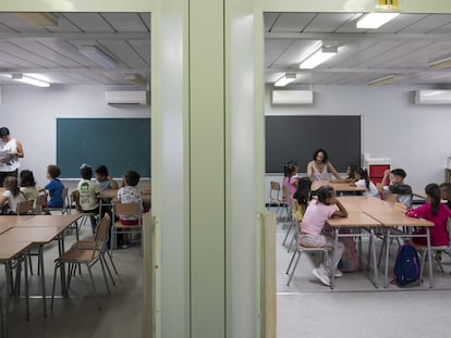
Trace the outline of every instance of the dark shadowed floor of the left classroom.
<instances>
[{"instance_id":1,"label":"dark shadowed floor of the left classroom","mask_svg":"<svg viewBox=\"0 0 451 338\"><path fill-rule=\"evenodd\" d=\"M89 236L89 226L84 226L84 236ZM75 236L66 237L66 248ZM57 245L46 246L45 270L47 295L51 296L53 278L53 259L57 256ZM42 316L41 299L31 299L31 320L25 321L25 300L23 298L12 300L9 316L10 337L141 337L142 333L142 264L138 243L127 249L118 249L113 253L114 263L119 275L114 275L115 286L111 286L111 296L108 296L101 267L96 264L93 267L94 278L99 297L95 301L93 287L88 273L82 267L82 275L76 275L72 280L70 298L57 298L54 309L50 312L50 299L47 302L48 316ZM34 268L37 263L34 261ZM84 270L83 270L84 268ZM1 270L1 274L4 274ZM31 295L40 295L40 277L31 277ZM1 280L3 276L1 276ZM57 279L57 292L59 291L59 279ZM4 292L4 290L1 290Z\"/></svg>"}]
</instances>

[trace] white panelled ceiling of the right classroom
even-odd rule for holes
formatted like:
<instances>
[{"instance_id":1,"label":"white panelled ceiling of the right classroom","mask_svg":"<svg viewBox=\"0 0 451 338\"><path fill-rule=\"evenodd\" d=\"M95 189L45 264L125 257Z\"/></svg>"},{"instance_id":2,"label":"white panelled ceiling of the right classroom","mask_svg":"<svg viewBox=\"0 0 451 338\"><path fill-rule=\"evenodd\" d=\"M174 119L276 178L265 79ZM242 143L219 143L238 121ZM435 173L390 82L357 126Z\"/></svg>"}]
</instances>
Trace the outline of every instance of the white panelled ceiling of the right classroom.
<instances>
[{"instance_id":1,"label":"white panelled ceiling of the right classroom","mask_svg":"<svg viewBox=\"0 0 451 338\"><path fill-rule=\"evenodd\" d=\"M428 61L451 55L451 15L400 14L379 29L357 29L362 13L266 13L265 80L285 72L297 85L366 85L395 75L391 85L451 85L451 67L429 70ZM320 41L338 54L314 70L298 63Z\"/></svg>"}]
</instances>

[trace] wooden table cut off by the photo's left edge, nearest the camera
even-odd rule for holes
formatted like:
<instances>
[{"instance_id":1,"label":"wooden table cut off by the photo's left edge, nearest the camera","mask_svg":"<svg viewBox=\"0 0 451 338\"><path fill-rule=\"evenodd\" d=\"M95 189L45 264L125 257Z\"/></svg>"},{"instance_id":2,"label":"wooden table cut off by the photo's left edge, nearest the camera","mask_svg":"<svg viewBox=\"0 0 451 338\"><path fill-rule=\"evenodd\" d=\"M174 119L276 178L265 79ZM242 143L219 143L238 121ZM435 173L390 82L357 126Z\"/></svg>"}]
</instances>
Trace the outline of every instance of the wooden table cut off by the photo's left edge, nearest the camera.
<instances>
[{"instance_id":1,"label":"wooden table cut off by the photo's left edge, nearest the camera","mask_svg":"<svg viewBox=\"0 0 451 338\"><path fill-rule=\"evenodd\" d=\"M9 315L9 305L10 305L10 295L11 295L11 274L12 274L12 262L16 260L22 253L28 249L32 242L27 241L0 241L0 263L4 264L4 274L5 274L5 286L4 286L4 304L0 304L0 321L1 321L1 337L8 337L8 315ZM28 267L27 260L23 259L25 264L25 312L26 320L29 318L29 304L28 304ZM21 263L19 263L21 264Z\"/></svg>"}]
</instances>

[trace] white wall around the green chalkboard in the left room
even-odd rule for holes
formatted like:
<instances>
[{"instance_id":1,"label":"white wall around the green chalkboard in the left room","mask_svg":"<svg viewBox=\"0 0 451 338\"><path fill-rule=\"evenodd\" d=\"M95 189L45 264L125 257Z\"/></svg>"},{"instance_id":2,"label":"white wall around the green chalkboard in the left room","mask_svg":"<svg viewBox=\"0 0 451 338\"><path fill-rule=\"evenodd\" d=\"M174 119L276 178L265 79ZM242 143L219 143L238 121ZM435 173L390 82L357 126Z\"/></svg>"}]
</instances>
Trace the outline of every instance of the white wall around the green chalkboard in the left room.
<instances>
[{"instance_id":1,"label":"white wall around the green chalkboard in the left room","mask_svg":"<svg viewBox=\"0 0 451 338\"><path fill-rule=\"evenodd\" d=\"M57 162L57 117L150 117L149 105L106 104L107 89L111 88L1 88L0 125L8 127L11 136L22 141L25 157L21 160L21 168L32 170L39 186L47 183L47 165Z\"/></svg>"}]
</instances>

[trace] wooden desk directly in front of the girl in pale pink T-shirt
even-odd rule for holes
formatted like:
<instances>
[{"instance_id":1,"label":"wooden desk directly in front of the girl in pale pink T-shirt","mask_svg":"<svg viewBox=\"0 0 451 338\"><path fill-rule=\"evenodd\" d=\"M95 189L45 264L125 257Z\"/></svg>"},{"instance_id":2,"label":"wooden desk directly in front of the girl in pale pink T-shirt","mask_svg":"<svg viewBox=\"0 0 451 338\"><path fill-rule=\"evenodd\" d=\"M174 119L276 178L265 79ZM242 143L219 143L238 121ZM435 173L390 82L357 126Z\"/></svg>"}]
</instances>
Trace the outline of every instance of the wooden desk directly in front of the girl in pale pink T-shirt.
<instances>
[{"instance_id":1,"label":"wooden desk directly in front of the girl in pale pink T-shirt","mask_svg":"<svg viewBox=\"0 0 451 338\"><path fill-rule=\"evenodd\" d=\"M338 241L340 237L358 237L358 260L359 263L362 263L362 237L363 236L369 236L370 242L375 242L375 227L381 227L382 224L380 222L376 221L371 216L367 215L364 212L349 212L348 217L337 217L337 218L329 218L327 220L327 223L336 229L336 248L338 246ZM352 231L348 234L340 234L341 228L348 228L348 229L357 229L358 231ZM363 234L362 228L369 229L369 234ZM373 248L373 265L374 265L374 275L375 280L374 285L376 288L378 288L378 277L377 277L377 259L376 259L376 246L371 246ZM368 248L369 250L369 248ZM368 266L369 266L369 251L368 251ZM334 288L334 274L336 270L332 268L330 273L330 287Z\"/></svg>"}]
</instances>

